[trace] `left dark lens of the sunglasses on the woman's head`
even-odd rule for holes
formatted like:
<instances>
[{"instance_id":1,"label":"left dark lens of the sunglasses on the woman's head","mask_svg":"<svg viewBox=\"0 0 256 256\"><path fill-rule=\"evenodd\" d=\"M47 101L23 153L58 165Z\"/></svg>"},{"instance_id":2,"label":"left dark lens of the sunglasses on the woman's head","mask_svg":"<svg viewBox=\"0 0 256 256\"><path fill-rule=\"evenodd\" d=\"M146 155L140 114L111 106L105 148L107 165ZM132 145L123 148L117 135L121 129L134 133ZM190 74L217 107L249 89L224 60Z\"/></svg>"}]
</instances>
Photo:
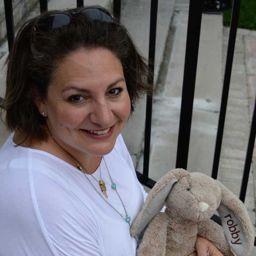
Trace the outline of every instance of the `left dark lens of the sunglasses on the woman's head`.
<instances>
[{"instance_id":1,"label":"left dark lens of the sunglasses on the woman's head","mask_svg":"<svg viewBox=\"0 0 256 256\"><path fill-rule=\"evenodd\" d=\"M70 22L70 17L66 14L52 14L41 18L37 22L37 27L42 32L51 31L53 28L60 28Z\"/></svg>"}]
</instances>

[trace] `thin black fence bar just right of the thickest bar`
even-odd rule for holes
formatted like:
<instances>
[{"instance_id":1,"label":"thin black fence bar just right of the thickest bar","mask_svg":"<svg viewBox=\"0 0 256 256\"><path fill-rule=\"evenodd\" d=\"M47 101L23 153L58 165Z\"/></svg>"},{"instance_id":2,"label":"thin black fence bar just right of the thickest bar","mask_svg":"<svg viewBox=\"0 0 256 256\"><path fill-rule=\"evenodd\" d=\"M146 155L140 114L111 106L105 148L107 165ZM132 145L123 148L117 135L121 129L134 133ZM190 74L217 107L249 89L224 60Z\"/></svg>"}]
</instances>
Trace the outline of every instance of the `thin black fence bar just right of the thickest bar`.
<instances>
[{"instance_id":1,"label":"thin black fence bar just right of the thickest bar","mask_svg":"<svg viewBox=\"0 0 256 256\"><path fill-rule=\"evenodd\" d=\"M228 42L228 52L226 57L225 76L224 76L224 84L223 84L223 90L222 90L222 101L220 106L219 124L218 124L217 137L216 137L216 143L215 143L215 152L214 152L214 159L213 159L212 177L214 179L217 179L217 176L218 176L220 151L222 146L222 137L223 137L224 123L225 123L225 116L226 116L226 106L228 103L229 84L230 84L230 77L231 77L234 50L235 50L236 31L238 27L240 2L241 2L240 0L233 1L233 9L232 9L230 32L229 32L229 42Z\"/></svg>"}]
</instances>

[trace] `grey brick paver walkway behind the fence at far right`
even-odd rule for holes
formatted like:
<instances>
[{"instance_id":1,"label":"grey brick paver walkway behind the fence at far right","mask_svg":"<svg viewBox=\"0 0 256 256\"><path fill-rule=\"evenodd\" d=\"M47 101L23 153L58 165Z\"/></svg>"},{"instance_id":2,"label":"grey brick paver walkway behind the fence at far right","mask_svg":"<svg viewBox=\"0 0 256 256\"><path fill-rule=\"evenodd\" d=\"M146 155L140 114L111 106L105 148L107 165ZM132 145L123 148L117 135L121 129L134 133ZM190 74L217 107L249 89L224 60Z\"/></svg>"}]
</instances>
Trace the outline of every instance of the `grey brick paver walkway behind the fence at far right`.
<instances>
[{"instance_id":1,"label":"grey brick paver walkway behind the fence at far right","mask_svg":"<svg viewBox=\"0 0 256 256\"><path fill-rule=\"evenodd\" d=\"M223 76L229 28L223 28ZM238 29L226 111L218 179L239 196L255 103L256 33ZM256 63L256 62L255 62ZM255 159L247 186L245 206L255 224L256 175Z\"/></svg>"}]
</instances>

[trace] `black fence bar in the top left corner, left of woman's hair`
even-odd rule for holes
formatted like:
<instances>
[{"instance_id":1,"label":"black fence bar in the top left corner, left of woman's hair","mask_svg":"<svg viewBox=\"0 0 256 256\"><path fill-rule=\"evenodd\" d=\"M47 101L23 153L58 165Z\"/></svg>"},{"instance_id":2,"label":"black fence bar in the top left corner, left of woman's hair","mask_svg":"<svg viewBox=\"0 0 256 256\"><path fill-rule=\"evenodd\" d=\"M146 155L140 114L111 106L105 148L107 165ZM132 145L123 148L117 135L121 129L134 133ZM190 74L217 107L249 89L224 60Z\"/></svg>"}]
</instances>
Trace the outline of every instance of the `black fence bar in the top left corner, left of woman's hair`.
<instances>
[{"instance_id":1,"label":"black fence bar in the top left corner, left of woman's hair","mask_svg":"<svg viewBox=\"0 0 256 256\"><path fill-rule=\"evenodd\" d=\"M8 48L9 52L11 50L12 43L14 41L14 20L12 12L12 1L4 0L5 6L5 21L6 21L6 30L7 30L7 39L8 39Z\"/></svg>"}]
</instances>

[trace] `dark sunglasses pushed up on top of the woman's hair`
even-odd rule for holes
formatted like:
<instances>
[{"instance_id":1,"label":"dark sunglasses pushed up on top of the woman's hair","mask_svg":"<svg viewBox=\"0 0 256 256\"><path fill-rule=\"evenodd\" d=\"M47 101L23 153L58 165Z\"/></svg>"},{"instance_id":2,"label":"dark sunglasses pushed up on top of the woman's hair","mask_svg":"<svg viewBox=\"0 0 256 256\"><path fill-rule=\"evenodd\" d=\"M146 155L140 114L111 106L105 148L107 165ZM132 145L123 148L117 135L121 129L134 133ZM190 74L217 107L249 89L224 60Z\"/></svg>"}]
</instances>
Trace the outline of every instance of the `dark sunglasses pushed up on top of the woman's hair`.
<instances>
[{"instance_id":1,"label":"dark sunglasses pushed up on top of the woman's hair","mask_svg":"<svg viewBox=\"0 0 256 256\"><path fill-rule=\"evenodd\" d=\"M114 22L113 15L100 6L84 7L76 12L52 12L48 16L39 19L34 26L34 32L49 32L54 28L60 28L68 25L71 17L75 14L82 14L91 20L99 20L103 22Z\"/></svg>"}]
</instances>

